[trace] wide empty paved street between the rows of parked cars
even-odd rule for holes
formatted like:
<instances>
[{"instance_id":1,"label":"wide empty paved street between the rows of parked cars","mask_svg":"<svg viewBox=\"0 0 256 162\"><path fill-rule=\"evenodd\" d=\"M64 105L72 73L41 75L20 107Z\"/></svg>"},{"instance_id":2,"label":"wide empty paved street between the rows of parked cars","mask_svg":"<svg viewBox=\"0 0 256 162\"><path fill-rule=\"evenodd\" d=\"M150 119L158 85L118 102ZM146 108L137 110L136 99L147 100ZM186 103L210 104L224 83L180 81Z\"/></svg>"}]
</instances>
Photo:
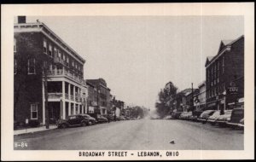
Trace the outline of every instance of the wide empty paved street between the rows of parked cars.
<instances>
[{"instance_id":1,"label":"wide empty paved street between the rows of parked cars","mask_svg":"<svg viewBox=\"0 0 256 162\"><path fill-rule=\"evenodd\" d=\"M243 131L183 120L140 119L46 130L15 136L15 142L43 150L241 150Z\"/></svg>"}]
</instances>

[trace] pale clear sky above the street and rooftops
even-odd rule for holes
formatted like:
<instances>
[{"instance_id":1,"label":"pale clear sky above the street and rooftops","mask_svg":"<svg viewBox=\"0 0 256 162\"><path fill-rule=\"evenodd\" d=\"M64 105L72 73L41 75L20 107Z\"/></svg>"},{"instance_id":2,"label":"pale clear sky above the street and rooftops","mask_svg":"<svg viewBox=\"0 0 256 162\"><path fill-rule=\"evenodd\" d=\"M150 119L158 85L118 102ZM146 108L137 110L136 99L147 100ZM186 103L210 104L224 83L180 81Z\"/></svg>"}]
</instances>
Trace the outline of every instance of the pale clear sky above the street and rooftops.
<instances>
[{"instance_id":1,"label":"pale clear sky above the street and rooftops","mask_svg":"<svg viewBox=\"0 0 256 162\"><path fill-rule=\"evenodd\" d=\"M104 78L126 105L154 109L160 89L205 80L205 61L220 41L244 34L242 16L41 16L85 59L84 78Z\"/></svg>"}]
</instances>

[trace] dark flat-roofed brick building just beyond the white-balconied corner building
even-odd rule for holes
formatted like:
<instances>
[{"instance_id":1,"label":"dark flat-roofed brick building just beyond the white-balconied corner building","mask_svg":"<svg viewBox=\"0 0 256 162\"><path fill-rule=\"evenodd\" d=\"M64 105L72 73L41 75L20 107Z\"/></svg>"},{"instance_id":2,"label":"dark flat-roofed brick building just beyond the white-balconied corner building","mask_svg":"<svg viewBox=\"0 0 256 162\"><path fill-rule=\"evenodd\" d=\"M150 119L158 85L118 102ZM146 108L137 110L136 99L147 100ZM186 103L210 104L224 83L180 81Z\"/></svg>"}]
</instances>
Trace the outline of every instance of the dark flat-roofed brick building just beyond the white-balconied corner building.
<instances>
[{"instance_id":1,"label":"dark flat-roofed brick building just beyond the white-balconied corner building","mask_svg":"<svg viewBox=\"0 0 256 162\"><path fill-rule=\"evenodd\" d=\"M96 98L96 107L99 109L99 113L107 114L108 109L110 108L110 89L107 87L106 81L103 78L98 78L87 79L86 82L87 84L93 85L96 90L96 93L94 93L94 98Z\"/></svg>"}]
</instances>

